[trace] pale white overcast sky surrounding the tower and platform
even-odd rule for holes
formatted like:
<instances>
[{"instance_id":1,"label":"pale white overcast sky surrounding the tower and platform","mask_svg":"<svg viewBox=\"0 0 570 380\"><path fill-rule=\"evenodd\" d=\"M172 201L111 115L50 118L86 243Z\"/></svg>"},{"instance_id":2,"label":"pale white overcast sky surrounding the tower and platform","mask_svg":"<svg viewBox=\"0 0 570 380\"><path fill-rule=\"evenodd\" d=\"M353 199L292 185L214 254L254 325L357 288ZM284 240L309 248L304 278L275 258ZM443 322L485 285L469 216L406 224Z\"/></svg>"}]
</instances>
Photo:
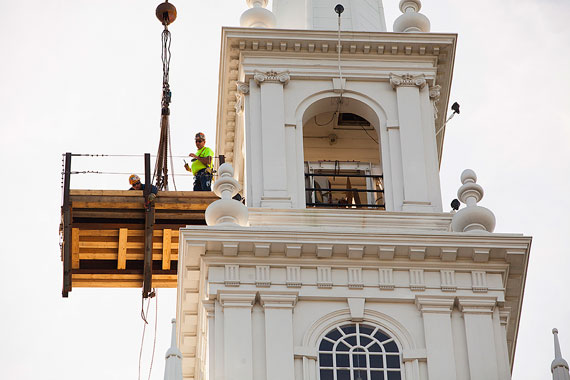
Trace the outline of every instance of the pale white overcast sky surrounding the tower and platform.
<instances>
[{"instance_id":1,"label":"pale white overcast sky surrounding the tower and platform","mask_svg":"<svg viewBox=\"0 0 570 380\"><path fill-rule=\"evenodd\" d=\"M0 0L2 379L137 376L140 290L76 288L61 298L61 154L156 152L159 2ZM570 360L570 1L423 3L432 31L459 34L451 101L461 115L446 134L444 204L455 198L461 171L472 168L496 231L534 237L513 378L549 378L552 327ZM198 130L214 146L220 28L237 26L246 5L174 4L173 153L187 155ZM389 30L397 7L384 0ZM74 170L96 168L142 170L142 158L74 162ZM128 187L126 175L76 177L75 188ZM190 189L188 177L177 184ZM163 378L174 315L175 290L159 290L152 379ZM151 326L143 378L152 336Z\"/></svg>"}]
</instances>

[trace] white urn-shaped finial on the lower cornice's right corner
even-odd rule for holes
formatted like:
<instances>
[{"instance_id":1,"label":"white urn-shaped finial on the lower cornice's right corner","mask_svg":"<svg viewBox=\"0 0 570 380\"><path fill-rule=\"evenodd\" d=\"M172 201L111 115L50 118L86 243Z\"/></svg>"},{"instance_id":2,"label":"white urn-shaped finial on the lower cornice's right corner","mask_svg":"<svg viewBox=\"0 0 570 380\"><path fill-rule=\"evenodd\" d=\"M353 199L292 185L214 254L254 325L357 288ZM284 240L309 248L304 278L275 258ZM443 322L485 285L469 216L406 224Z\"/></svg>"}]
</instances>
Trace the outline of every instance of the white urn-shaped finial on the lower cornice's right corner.
<instances>
[{"instance_id":1,"label":"white urn-shaped finial on the lower cornice's right corner","mask_svg":"<svg viewBox=\"0 0 570 380\"><path fill-rule=\"evenodd\" d=\"M467 207L459 210L451 220L454 232L493 232L495 230L495 215L491 210L477 206L483 198L483 188L477 184L477 175L471 169L461 173L463 186L457 190L459 200Z\"/></svg>"}]
</instances>

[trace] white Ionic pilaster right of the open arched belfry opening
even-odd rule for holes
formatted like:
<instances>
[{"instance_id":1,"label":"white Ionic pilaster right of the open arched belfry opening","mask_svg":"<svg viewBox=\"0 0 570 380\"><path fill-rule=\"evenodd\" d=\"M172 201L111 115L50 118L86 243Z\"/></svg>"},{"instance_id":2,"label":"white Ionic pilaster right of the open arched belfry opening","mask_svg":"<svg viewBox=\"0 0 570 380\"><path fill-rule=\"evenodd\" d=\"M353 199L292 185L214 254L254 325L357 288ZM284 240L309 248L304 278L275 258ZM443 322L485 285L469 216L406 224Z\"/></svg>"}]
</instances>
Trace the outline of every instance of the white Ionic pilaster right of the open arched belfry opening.
<instances>
[{"instance_id":1,"label":"white Ionic pilaster right of the open arched belfry opening","mask_svg":"<svg viewBox=\"0 0 570 380\"><path fill-rule=\"evenodd\" d=\"M425 163L424 132L420 90L425 87L423 75L390 76L390 84L396 90L400 147L404 179L403 211L433 211L429 200Z\"/></svg>"}]
</instances>

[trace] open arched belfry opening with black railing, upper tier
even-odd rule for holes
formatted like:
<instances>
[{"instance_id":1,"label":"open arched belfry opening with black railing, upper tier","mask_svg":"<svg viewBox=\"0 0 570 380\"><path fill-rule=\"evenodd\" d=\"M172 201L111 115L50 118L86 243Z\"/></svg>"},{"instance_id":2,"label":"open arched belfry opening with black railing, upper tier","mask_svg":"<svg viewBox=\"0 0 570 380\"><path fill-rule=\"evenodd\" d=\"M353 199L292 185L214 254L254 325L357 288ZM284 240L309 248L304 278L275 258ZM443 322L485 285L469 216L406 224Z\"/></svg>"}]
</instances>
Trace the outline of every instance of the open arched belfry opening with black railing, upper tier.
<instances>
[{"instance_id":1,"label":"open arched belfry opening with black railing, upper tier","mask_svg":"<svg viewBox=\"0 0 570 380\"><path fill-rule=\"evenodd\" d=\"M325 98L303 122L307 207L384 209L378 117L355 99Z\"/></svg>"}]
</instances>

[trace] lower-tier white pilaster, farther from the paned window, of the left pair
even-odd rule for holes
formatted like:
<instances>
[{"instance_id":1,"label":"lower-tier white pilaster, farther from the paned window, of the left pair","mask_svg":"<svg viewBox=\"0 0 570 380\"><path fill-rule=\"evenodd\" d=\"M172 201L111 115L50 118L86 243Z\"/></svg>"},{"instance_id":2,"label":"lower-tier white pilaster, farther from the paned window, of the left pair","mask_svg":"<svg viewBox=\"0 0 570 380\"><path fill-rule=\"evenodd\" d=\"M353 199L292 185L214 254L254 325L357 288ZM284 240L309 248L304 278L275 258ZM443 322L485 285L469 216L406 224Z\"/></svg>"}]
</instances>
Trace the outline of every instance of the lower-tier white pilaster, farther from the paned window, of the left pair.
<instances>
[{"instance_id":1,"label":"lower-tier white pilaster, farther from the paned window, of the left pair","mask_svg":"<svg viewBox=\"0 0 570 380\"><path fill-rule=\"evenodd\" d=\"M253 378L251 309L255 292L222 293L224 311L224 379Z\"/></svg>"}]
</instances>

